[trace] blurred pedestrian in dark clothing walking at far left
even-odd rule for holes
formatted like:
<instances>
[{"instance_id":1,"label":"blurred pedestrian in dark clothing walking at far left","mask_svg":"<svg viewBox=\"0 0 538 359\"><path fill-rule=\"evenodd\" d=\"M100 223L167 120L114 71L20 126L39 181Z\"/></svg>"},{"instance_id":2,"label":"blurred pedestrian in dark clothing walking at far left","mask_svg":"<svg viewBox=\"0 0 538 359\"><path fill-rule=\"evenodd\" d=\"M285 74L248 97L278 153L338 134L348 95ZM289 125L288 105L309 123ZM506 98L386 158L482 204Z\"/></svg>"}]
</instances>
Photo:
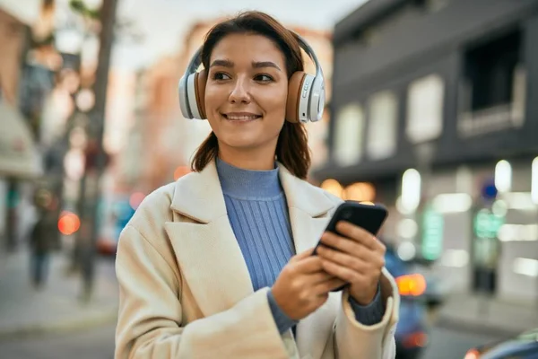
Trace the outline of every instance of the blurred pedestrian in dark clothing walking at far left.
<instances>
[{"instance_id":1,"label":"blurred pedestrian in dark clothing walking at far left","mask_svg":"<svg viewBox=\"0 0 538 359\"><path fill-rule=\"evenodd\" d=\"M30 279L36 289L46 285L50 253L58 248L56 206L56 199L48 190L38 190L37 221L30 231Z\"/></svg>"}]
</instances>

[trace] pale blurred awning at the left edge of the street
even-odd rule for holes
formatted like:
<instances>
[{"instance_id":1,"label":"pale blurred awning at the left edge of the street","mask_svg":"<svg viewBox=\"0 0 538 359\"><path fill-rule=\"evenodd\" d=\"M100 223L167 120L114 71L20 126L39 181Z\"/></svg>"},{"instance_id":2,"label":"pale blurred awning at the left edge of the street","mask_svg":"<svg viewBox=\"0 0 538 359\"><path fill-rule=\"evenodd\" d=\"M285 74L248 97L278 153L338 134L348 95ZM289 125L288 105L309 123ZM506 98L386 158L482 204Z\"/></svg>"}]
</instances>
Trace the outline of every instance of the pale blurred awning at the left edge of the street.
<instances>
[{"instance_id":1,"label":"pale blurred awning at the left edge of the street","mask_svg":"<svg viewBox=\"0 0 538 359\"><path fill-rule=\"evenodd\" d=\"M31 179L42 173L41 157L26 119L0 101L0 176Z\"/></svg>"}]
</instances>

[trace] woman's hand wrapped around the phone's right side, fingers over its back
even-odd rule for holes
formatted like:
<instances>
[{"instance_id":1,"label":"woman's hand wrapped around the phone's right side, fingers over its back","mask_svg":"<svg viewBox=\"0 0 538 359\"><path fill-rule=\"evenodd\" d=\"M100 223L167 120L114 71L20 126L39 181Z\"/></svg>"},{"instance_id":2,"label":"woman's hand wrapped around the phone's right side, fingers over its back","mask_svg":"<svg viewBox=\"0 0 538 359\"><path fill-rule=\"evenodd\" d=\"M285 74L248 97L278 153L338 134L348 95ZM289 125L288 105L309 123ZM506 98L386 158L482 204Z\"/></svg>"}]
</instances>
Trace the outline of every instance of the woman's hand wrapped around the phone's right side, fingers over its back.
<instances>
[{"instance_id":1,"label":"woman's hand wrapped around the phone's right side, fingers over its back","mask_svg":"<svg viewBox=\"0 0 538 359\"><path fill-rule=\"evenodd\" d=\"M368 305L377 293L381 269L385 266L386 248L376 237L362 228L339 222L336 230L341 235L325 232L317 249L327 274L350 284L351 297L361 305Z\"/></svg>"}]
</instances>

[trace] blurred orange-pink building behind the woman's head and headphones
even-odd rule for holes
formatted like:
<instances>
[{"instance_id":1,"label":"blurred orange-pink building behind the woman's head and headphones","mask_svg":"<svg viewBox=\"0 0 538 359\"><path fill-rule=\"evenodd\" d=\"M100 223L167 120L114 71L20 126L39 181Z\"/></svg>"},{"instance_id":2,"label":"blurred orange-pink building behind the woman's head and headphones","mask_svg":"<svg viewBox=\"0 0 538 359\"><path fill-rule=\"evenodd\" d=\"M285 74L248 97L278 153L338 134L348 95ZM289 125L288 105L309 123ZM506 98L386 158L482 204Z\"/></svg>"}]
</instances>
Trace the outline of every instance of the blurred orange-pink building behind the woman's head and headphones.
<instances>
[{"instance_id":1,"label":"blurred orange-pink building behind the woman's head and headphones","mask_svg":"<svg viewBox=\"0 0 538 359\"><path fill-rule=\"evenodd\" d=\"M177 55L163 57L139 76L137 103L140 109L136 115L136 126L131 135L143 151L128 151L122 155L126 165L124 171L130 173L136 188L148 193L154 188L188 172L190 160L196 148L210 133L207 121L185 119L181 116L178 101L178 81L184 74L188 62L204 41L204 35L222 18L212 21L195 22L180 43ZM325 31L291 28L307 39L316 50L323 67L327 83L327 101L331 98L331 77L333 52L331 35ZM315 66L305 57L308 73L315 73ZM326 133L329 113L323 121L308 125L309 144L313 152L313 166L319 166L326 159ZM127 164L130 163L130 164ZM143 163L143 164L141 164ZM140 170L134 168L138 166ZM139 180L134 180L138 177Z\"/></svg>"}]
</instances>

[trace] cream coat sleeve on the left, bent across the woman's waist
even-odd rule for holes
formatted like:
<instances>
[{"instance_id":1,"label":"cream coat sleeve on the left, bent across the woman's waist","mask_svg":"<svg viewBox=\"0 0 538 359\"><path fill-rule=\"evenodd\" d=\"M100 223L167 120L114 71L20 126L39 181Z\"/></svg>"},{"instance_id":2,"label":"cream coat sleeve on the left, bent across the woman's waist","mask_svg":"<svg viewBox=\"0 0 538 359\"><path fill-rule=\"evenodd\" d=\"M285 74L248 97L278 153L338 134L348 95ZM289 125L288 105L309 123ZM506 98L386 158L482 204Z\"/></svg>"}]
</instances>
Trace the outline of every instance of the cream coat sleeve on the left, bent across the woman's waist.
<instances>
[{"instance_id":1,"label":"cream coat sleeve on the left, bent across the woman's waist","mask_svg":"<svg viewBox=\"0 0 538 359\"><path fill-rule=\"evenodd\" d=\"M280 336L267 288L227 311L182 325L178 267L173 255L157 250L132 225L117 249L120 289L117 359L288 358L294 346ZM247 338L247 340L246 340Z\"/></svg>"}]
</instances>

